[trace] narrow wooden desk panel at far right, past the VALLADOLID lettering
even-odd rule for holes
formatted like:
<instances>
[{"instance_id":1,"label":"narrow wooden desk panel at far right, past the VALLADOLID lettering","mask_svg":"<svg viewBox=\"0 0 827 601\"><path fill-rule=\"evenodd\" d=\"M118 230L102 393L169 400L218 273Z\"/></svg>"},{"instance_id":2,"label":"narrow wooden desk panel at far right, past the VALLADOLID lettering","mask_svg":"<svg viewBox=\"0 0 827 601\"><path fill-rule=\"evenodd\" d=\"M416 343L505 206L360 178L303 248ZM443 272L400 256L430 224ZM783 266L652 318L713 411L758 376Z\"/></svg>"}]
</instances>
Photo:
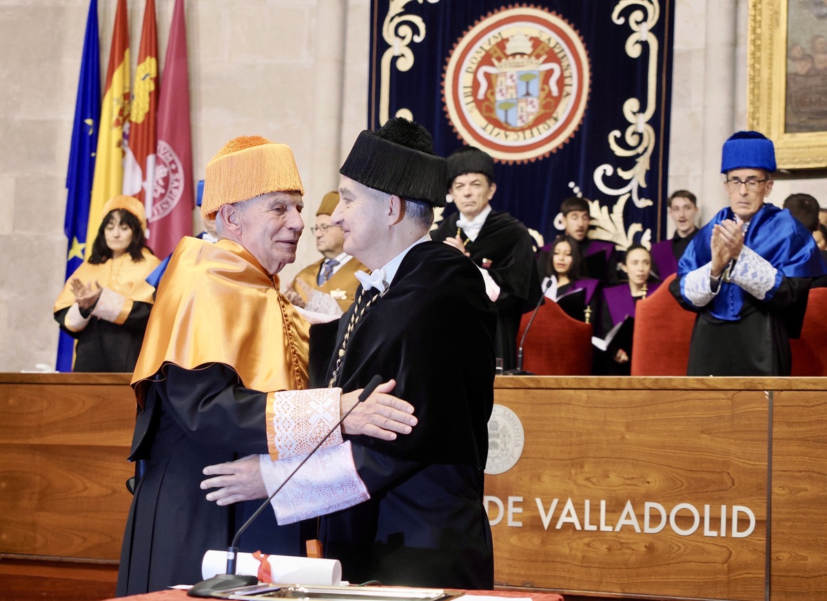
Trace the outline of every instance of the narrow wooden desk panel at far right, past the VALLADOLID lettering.
<instances>
[{"instance_id":1,"label":"narrow wooden desk panel at far right, past the VALLADOLID lettering","mask_svg":"<svg viewBox=\"0 0 827 601\"><path fill-rule=\"evenodd\" d=\"M827 395L772 410L772 599L827 599Z\"/></svg>"}]
</instances>

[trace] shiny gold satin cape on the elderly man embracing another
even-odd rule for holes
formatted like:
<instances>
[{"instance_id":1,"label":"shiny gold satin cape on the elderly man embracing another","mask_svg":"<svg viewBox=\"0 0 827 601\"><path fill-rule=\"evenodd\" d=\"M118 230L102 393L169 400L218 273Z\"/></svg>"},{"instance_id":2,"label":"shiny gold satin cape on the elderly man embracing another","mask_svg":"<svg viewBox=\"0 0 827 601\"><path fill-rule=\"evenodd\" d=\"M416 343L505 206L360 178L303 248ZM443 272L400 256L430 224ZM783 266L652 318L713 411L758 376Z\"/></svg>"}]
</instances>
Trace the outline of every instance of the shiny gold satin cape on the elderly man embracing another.
<instances>
[{"instance_id":1,"label":"shiny gold satin cape on the elderly man embracing another","mask_svg":"<svg viewBox=\"0 0 827 601\"><path fill-rule=\"evenodd\" d=\"M250 389L305 389L308 322L243 246L185 237L161 279L132 376L141 406L162 365L231 367Z\"/></svg>"}]
</instances>

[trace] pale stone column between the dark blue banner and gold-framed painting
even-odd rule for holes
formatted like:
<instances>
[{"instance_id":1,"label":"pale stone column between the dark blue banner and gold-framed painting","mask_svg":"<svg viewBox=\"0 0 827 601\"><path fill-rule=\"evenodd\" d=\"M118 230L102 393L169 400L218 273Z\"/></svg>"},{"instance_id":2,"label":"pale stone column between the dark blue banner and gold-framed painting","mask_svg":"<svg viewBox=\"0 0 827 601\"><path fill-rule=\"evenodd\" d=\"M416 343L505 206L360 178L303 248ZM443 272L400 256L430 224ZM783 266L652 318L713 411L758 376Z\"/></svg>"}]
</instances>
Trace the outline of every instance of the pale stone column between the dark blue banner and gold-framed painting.
<instances>
[{"instance_id":1,"label":"pale stone column between the dark blue banner and gold-framed painting","mask_svg":"<svg viewBox=\"0 0 827 601\"><path fill-rule=\"evenodd\" d=\"M732 2L706 0L701 223L729 203L720 184L720 153L734 132L736 17Z\"/></svg>"}]
</instances>

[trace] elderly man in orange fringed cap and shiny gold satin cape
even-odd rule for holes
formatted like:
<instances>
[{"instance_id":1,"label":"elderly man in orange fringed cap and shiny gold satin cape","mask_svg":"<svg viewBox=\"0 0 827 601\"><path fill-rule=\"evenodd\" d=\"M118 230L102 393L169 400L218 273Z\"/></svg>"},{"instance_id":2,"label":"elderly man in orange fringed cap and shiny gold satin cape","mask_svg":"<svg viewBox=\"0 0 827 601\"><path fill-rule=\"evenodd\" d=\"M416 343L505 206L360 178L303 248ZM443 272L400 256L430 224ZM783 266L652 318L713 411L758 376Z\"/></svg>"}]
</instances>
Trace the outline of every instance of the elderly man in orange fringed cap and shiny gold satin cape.
<instances>
[{"instance_id":1,"label":"elderly man in orange fringed cap and shiny gold satin cape","mask_svg":"<svg viewBox=\"0 0 827 601\"><path fill-rule=\"evenodd\" d=\"M320 452L335 457L349 446L342 434L391 439L416 422L408 403L386 394L393 382L341 428L358 391L307 390L308 323L279 292L278 276L304 230L303 193L293 152L259 136L229 141L207 165L201 212L219 240L179 242L132 376L139 411L130 460L146 470L127 520L118 595L201 580L203 554L227 548L258 507L210 503L200 489L206 465L258 454L287 461L331 430ZM298 525L267 518L241 550L300 555Z\"/></svg>"}]
</instances>

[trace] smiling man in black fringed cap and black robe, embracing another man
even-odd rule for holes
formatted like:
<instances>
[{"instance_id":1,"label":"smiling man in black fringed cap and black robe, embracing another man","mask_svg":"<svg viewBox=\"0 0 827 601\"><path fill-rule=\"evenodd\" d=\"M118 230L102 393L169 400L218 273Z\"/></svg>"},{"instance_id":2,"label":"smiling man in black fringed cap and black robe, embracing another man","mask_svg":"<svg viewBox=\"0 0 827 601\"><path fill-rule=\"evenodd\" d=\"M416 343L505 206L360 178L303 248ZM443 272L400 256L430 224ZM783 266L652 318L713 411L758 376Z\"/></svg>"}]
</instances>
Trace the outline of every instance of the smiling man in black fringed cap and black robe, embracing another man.
<instances>
[{"instance_id":1,"label":"smiling man in black fringed cap and black robe, embracing another man","mask_svg":"<svg viewBox=\"0 0 827 601\"><path fill-rule=\"evenodd\" d=\"M351 390L374 374L393 378L394 394L414 405L419 422L386 444L348 437L364 503L332 503L327 472L312 458L273 499L276 517L281 523L283 513L327 513L319 524L325 555L341 560L351 582L491 589L483 470L496 311L471 261L428 236L433 207L445 202L446 162L433 154L423 126L398 117L377 132L362 131L340 173L332 223L345 232L345 251L372 272L357 274L362 285L339 324L327 383ZM446 360L437 350L449 347L461 352ZM270 492L291 461L241 463L261 469L257 477ZM238 465L206 473L246 471ZM239 473L204 485L230 489L243 480ZM223 498L229 490L213 494Z\"/></svg>"}]
</instances>

